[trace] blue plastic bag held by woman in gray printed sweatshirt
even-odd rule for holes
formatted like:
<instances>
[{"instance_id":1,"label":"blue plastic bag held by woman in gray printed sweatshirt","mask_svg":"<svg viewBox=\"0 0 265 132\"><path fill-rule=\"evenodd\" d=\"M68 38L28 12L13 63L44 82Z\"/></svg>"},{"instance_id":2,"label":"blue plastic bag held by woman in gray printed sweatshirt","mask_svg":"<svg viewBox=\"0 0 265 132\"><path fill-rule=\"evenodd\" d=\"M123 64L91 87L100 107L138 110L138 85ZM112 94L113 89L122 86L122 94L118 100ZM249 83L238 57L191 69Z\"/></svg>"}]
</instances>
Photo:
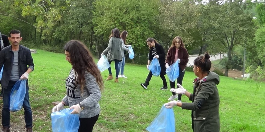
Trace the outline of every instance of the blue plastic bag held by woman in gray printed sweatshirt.
<instances>
[{"instance_id":1,"label":"blue plastic bag held by woman in gray printed sweatshirt","mask_svg":"<svg viewBox=\"0 0 265 132\"><path fill-rule=\"evenodd\" d=\"M70 114L73 111L68 109L51 113L52 132L78 132L80 121L78 114Z\"/></svg>"}]
</instances>

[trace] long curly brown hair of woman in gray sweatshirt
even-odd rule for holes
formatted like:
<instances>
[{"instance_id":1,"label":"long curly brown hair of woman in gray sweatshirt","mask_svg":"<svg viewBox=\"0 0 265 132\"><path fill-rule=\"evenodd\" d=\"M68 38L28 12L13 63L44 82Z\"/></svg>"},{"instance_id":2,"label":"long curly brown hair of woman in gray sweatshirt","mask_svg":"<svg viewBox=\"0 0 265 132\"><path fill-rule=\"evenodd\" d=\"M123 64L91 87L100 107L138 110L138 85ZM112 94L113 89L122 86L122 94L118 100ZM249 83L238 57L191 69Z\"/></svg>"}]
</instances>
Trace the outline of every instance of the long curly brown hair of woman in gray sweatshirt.
<instances>
[{"instance_id":1,"label":"long curly brown hair of woman in gray sweatshirt","mask_svg":"<svg viewBox=\"0 0 265 132\"><path fill-rule=\"evenodd\" d=\"M81 85L81 93L83 93L85 87L85 71L95 76L100 91L103 91L104 84L101 73L86 45L80 41L71 40L65 44L64 50L70 53L70 63L77 75L76 82Z\"/></svg>"}]
</instances>

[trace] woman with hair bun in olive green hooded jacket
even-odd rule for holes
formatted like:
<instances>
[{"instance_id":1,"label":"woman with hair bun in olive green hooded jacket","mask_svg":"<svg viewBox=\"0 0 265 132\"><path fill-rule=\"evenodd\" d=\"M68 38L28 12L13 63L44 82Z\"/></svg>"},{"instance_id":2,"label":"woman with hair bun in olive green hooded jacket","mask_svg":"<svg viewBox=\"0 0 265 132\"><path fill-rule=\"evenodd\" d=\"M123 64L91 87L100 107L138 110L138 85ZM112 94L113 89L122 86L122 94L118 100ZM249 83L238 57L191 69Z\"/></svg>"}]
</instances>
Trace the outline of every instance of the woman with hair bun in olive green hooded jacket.
<instances>
[{"instance_id":1,"label":"woman with hair bun in olive green hooded jacket","mask_svg":"<svg viewBox=\"0 0 265 132\"><path fill-rule=\"evenodd\" d=\"M189 93L180 84L179 88L171 88L170 91L177 94L185 94L192 103L170 101L165 105L172 108L177 105L182 109L192 110L192 129L194 132L219 132L219 93L217 86L219 76L209 71L211 68L210 56L206 53L194 60L193 72L198 76L194 81L193 94Z\"/></svg>"}]
</instances>

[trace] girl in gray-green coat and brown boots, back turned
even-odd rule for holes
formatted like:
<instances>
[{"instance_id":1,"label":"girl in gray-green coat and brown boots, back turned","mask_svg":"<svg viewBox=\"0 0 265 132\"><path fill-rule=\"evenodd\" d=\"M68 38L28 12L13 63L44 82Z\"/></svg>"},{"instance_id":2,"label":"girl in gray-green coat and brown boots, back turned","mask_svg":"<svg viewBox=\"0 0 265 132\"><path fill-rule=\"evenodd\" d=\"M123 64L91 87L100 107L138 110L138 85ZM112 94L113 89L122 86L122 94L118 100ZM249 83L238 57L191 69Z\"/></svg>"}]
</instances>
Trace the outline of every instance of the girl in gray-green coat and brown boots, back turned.
<instances>
[{"instance_id":1,"label":"girl in gray-green coat and brown boots, back turned","mask_svg":"<svg viewBox=\"0 0 265 132\"><path fill-rule=\"evenodd\" d=\"M111 32L110 41L108 47L102 52L101 55L106 55L108 58L109 63L111 64L112 61L115 62L115 70L116 70L116 79L114 82L119 82L119 62L122 61L122 40L120 39L120 31L119 29L113 29ZM113 79L111 73L111 67L108 68L109 76L106 80Z\"/></svg>"}]
</instances>

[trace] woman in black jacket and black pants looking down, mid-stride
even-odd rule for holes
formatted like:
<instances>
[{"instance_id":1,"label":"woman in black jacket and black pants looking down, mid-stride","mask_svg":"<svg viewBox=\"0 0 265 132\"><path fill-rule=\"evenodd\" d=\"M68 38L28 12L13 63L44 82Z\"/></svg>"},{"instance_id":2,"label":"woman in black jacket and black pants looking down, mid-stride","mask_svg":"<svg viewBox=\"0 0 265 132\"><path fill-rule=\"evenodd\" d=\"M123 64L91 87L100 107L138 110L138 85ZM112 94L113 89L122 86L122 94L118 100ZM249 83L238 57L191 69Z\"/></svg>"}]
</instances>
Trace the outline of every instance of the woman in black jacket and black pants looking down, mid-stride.
<instances>
[{"instance_id":1,"label":"woman in black jacket and black pants looking down, mid-stride","mask_svg":"<svg viewBox=\"0 0 265 132\"><path fill-rule=\"evenodd\" d=\"M161 67L160 77L163 80L163 87L160 88L161 90L167 89L167 80L165 78L166 74L166 67L165 67L165 51L164 48L157 43L157 41L153 38L148 38L146 40L147 45L149 46L149 58L147 63L147 70L149 67L149 64L153 60L153 58L157 58ZM149 81L151 80L151 77L153 76L152 72L150 71L145 83L141 83L141 86L145 89L147 89L147 86L149 85Z\"/></svg>"}]
</instances>

